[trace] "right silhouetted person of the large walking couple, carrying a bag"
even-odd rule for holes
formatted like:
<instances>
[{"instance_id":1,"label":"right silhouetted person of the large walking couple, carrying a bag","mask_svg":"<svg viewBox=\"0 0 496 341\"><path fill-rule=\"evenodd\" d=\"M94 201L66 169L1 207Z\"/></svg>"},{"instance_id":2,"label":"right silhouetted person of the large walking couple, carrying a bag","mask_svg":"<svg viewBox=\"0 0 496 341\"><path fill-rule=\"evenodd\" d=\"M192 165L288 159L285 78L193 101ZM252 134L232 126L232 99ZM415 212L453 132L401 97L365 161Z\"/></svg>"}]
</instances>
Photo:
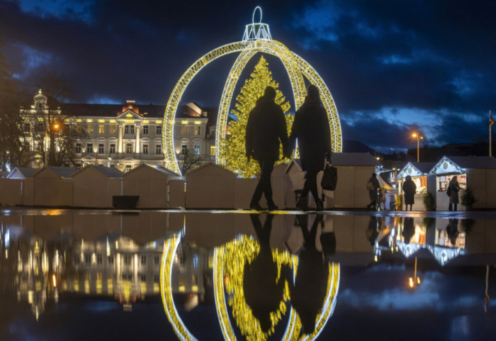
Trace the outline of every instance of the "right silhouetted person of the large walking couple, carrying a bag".
<instances>
[{"instance_id":1,"label":"right silhouetted person of the large walking couple, carrying a bag","mask_svg":"<svg viewBox=\"0 0 496 341\"><path fill-rule=\"evenodd\" d=\"M320 106L319 89L313 84L308 86L305 103L295 113L295 121L285 152L287 157L293 152L296 139L298 139L301 168L306 172L303 191L296 206L308 211L306 198L308 192L311 192L315 200L315 209L322 211L322 200L319 199L317 191L317 173L324 169L325 157L330 162L331 133L325 108Z\"/></svg>"}]
</instances>

